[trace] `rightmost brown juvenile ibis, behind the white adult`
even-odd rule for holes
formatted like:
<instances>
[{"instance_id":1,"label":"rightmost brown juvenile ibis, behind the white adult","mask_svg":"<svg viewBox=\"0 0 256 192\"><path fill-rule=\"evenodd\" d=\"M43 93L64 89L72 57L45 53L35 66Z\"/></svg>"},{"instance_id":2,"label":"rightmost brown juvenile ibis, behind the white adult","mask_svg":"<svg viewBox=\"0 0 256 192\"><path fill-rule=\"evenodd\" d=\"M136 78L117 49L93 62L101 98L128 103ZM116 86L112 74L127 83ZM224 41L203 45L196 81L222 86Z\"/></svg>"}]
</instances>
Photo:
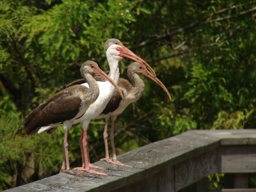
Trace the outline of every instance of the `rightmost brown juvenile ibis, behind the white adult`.
<instances>
[{"instance_id":1,"label":"rightmost brown juvenile ibis, behind the white adult","mask_svg":"<svg viewBox=\"0 0 256 192\"><path fill-rule=\"evenodd\" d=\"M126 79L120 78L118 81L118 86L122 90L124 94L124 100L118 95L118 92L115 92L111 100L109 101L108 105L102 111L102 113L97 118L105 118L105 125L104 125L104 143L105 143L105 150L106 150L106 157L104 158L105 161L113 164L118 164L121 166L128 166L126 164L120 163L120 161L116 158L116 150L115 150L115 121L116 117L123 113L124 109L129 106L132 102L136 102L140 99L140 97L143 95L145 85L140 79L139 74L142 74L143 76L146 76L153 81L155 81L159 86L163 88L163 90L167 93L170 100L172 100L172 97L166 87L163 83L157 77L154 76L151 72L148 72L148 70L141 66L138 62L134 62L127 68L127 75L134 86L132 86L129 81ZM113 150L113 159L109 159L109 150L108 150L108 121L109 117L111 117L112 124L111 124L111 133L110 133L110 139L111 139L111 147ZM131 166L129 166L131 167Z\"/></svg>"}]
</instances>

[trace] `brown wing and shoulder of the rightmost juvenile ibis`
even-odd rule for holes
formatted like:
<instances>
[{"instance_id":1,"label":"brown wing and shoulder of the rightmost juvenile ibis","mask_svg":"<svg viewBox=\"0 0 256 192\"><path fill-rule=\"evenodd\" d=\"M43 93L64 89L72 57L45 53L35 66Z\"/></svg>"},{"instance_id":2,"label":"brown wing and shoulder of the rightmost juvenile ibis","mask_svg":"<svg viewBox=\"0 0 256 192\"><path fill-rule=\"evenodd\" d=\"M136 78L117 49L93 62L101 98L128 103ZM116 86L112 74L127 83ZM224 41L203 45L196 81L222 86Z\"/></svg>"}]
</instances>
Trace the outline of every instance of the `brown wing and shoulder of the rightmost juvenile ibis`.
<instances>
[{"instance_id":1,"label":"brown wing and shoulder of the rightmost juvenile ibis","mask_svg":"<svg viewBox=\"0 0 256 192\"><path fill-rule=\"evenodd\" d=\"M129 81L127 81L126 79L120 78L117 85L122 90L124 97L125 97L125 93L129 92L132 89L131 83L129 83ZM115 111L119 107L121 100L122 100L122 97L117 91L115 91L115 93L113 94L113 97L111 97L111 99L108 102L108 105L102 111L101 114L108 114Z\"/></svg>"}]
</instances>

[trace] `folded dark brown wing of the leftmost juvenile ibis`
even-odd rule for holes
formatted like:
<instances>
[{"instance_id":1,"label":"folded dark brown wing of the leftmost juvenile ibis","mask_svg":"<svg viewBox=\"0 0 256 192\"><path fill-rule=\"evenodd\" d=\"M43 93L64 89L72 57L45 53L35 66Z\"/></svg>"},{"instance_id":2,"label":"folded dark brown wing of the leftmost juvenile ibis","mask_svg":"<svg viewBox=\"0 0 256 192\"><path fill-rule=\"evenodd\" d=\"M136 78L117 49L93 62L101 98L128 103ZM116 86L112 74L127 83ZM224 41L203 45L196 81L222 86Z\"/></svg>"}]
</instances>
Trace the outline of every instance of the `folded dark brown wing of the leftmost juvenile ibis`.
<instances>
[{"instance_id":1,"label":"folded dark brown wing of the leftmost juvenile ibis","mask_svg":"<svg viewBox=\"0 0 256 192\"><path fill-rule=\"evenodd\" d=\"M74 92L77 88L83 92L87 90L86 87L79 85L66 88L31 111L24 121L26 134L35 134L40 127L62 123L74 118L79 112L82 102L79 95L76 95L77 92Z\"/></svg>"}]
</instances>

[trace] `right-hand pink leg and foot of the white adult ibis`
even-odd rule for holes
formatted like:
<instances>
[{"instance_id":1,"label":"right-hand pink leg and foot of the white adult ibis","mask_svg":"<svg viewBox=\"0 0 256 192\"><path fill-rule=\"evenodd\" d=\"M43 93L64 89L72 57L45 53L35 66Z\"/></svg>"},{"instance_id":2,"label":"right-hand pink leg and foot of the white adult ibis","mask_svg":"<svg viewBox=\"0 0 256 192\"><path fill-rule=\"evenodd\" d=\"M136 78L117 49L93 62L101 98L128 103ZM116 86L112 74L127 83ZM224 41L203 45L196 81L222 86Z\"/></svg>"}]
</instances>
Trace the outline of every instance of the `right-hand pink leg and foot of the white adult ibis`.
<instances>
[{"instance_id":1,"label":"right-hand pink leg and foot of the white adult ibis","mask_svg":"<svg viewBox=\"0 0 256 192\"><path fill-rule=\"evenodd\" d=\"M83 132L83 154L84 154L84 167L77 168L77 170L82 170L84 172L93 173L97 175L108 176L106 173L96 172L95 170L90 170L90 157L88 153L88 138L87 131Z\"/></svg>"}]
</instances>

